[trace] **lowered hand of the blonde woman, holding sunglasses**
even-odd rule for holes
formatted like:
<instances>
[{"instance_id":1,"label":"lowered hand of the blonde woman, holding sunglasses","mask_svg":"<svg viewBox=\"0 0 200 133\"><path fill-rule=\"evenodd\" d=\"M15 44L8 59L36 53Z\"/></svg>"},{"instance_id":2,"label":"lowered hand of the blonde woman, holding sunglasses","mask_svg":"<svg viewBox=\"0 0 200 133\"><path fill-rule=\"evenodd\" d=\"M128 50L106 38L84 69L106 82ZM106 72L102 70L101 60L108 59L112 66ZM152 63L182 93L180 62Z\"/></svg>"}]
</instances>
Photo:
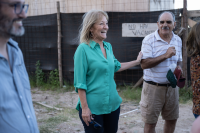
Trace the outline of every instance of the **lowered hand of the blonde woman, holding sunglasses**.
<instances>
[{"instance_id":1,"label":"lowered hand of the blonde woman, holding sunglasses","mask_svg":"<svg viewBox=\"0 0 200 133\"><path fill-rule=\"evenodd\" d=\"M89 126L89 122L93 120L92 113L88 107L82 108L82 119L86 123L87 126Z\"/></svg>"}]
</instances>

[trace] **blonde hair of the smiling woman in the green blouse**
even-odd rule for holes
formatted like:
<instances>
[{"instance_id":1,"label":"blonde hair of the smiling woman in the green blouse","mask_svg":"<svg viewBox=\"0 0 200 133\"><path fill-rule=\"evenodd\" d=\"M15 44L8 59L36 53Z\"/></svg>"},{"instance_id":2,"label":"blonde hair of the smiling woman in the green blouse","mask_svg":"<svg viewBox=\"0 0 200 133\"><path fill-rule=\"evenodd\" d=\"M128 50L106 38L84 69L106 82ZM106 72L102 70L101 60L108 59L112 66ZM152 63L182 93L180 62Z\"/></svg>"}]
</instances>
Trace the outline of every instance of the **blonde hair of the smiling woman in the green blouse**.
<instances>
[{"instance_id":1,"label":"blonde hair of the smiling woman in the green blouse","mask_svg":"<svg viewBox=\"0 0 200 133\"><path fill-rule=\"evenodd\" d=\"M105 16L108 21L108 14L102 10L90 10L83 15L83 22L79 31L80 43L89 45L90 40L92 39L90 29L103 16Z\"/></svg>"}]
</instances>

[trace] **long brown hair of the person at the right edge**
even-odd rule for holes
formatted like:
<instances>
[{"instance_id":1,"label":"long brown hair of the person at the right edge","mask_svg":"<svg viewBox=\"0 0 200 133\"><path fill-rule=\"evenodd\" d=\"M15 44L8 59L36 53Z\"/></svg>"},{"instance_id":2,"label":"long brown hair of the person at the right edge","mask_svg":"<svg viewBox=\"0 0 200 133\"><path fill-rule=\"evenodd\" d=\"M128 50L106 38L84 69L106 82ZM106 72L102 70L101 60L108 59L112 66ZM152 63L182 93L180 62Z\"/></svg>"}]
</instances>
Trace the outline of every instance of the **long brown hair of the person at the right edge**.
<instances>
[{"instance_id":1,"label":"long brown hair of the person at the right edge","mask_svg":"<svg viewBox=\"0 0 200 133\"><path fill-rule=\"evenodd\" d=\"M189 57L200 53L200 22L196 23L187 38L186 48Z\"/></svg>"}]
</instances>

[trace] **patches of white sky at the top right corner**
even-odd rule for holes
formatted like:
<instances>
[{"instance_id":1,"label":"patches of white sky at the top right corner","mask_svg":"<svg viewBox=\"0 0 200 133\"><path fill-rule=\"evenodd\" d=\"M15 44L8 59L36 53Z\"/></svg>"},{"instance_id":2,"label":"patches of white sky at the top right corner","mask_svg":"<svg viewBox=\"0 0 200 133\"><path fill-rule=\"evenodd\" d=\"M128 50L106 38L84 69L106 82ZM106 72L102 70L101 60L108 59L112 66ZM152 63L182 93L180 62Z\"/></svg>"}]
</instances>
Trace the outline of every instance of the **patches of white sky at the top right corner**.
<instances>
[{"instance_id":1,"label":"patches of white sky at the top right corner","mask_svg":"<svg viewBox=\"0 0 200 133\"><path fill-rule=\"evenodd\" d=\"M175 0L175 9L183 8L183 0ZM200 10L200 0L187 0L187 10Z\"/></svg>"}]
</instances>

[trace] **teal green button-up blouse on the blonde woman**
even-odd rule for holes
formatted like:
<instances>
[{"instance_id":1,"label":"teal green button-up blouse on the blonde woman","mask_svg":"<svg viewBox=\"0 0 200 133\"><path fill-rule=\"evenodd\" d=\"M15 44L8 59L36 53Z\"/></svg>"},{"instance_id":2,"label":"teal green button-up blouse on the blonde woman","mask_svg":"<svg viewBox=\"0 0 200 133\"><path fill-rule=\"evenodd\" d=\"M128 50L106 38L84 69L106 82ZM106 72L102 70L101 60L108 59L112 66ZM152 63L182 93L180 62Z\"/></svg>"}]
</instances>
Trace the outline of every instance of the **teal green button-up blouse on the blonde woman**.
<instances>
[{"instance_id":1,"label":"teal green button-up blouse on the blonde woman","mask_svg":"<svg viewBox=\"0 0 200 133\"><path fill-rule=\"evenodd\" d=\"M121 68L120 62L113 55L112 46L103 42L107 59L103 56L100 45L90 41L90 46L82 43L74 55L75 91L84 89L88 107L92 114L109 114L119 108L122 99L116 90L114 73ZM81 106L80 99L76 109Z\"/></svg>"}]
</instances>

